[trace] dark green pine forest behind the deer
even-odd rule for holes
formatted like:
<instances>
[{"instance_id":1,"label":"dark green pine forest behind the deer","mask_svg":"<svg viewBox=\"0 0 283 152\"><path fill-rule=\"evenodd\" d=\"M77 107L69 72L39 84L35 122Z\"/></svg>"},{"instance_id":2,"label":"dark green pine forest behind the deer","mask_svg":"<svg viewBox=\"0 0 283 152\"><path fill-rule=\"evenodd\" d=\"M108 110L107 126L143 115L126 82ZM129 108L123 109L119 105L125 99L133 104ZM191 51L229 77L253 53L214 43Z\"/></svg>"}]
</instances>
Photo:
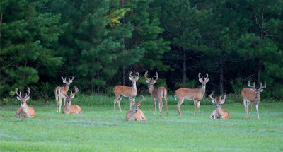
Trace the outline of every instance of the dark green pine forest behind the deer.
<instances>
[{"instance_id":1,"label":"dark green pine forest behind the deer","mask_svg":"<svg viewBox=\"0 0 283 152\"><path fill-rule=\"evenodd\" d=\"M71 90L146 90L144 72L158 71L168 93L200 88L241 93L248 81L262 94L283 95L282 0L0 0L0 98L30 87L54 98L63 77Z\"/></svg>"}]
</instances>

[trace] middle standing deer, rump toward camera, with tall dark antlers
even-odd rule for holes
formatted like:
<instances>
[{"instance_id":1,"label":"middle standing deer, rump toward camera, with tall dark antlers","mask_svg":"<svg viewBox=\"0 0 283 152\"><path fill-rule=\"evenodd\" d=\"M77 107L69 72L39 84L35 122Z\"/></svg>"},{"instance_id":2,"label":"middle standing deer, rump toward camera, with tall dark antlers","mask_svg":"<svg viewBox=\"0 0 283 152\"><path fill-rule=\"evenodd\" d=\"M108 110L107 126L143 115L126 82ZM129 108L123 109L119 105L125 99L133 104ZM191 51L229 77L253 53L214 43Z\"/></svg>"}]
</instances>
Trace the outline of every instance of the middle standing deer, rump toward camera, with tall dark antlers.
<instances>
[{"instance_id":1,"label":"middle standing deer, rump toward camera, with tall dark antlers","mask_svg":"<svg viewBox=\"0 0 283 152\"><path fill-rule=\"evenodd\" d=\"M156 76L154 76L156 79L154 80L154 78L147 78L147 72L144 74L144 77L146 78L146 83L148 84L149 88L149 93L151 94L151 98L152 100L154 100L154 116L156 114L156 100L158 100L158 107L159 107L159 116L162 115L162 107L163 107L163 102L162 100L164 99L165 105L166 105L166 114L168 117L168 106L167 106L167 90L165 87L161 86L158 87L157 89L154 88L154 84L156 83L156 81L158 80L158 73L156 71Z\"/></svg>"}]
</instances>

